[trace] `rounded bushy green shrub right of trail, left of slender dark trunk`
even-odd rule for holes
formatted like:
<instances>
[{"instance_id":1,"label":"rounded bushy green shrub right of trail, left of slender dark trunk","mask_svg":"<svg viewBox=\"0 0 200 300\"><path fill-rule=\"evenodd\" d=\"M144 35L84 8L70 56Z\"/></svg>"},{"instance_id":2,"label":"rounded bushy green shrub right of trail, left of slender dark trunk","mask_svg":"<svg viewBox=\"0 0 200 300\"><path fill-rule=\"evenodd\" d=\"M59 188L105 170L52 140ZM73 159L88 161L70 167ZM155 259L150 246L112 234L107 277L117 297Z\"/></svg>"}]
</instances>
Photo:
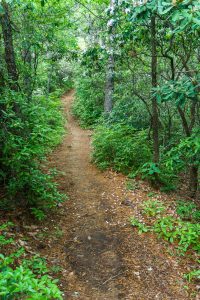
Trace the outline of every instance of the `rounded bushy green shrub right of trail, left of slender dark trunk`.
<instances>
[{"instance_id":1,"label":"rounded bushy green shrub right of trail, left of slender dark trunk","mask_svg":"<svg viewBox=\"0 0 200 300\"><path fill-rule=\"evenodd\" d=\"M93 138L93 160L101 168L128 173L151 158L145 131L125 125L98 126Z\"/></svg>"}]
</instances>

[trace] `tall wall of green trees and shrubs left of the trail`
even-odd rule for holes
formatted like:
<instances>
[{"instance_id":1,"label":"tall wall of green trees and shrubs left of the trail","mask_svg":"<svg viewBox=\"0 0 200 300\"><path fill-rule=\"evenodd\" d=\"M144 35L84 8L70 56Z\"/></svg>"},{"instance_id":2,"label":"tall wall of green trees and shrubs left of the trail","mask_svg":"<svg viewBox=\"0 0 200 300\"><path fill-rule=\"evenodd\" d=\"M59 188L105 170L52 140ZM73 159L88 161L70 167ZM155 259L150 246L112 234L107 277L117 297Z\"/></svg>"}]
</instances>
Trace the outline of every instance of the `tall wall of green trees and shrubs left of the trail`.
<instances>
[{"instance_id":1,"label":"tall wall of green trees and shrubs left of the trail","mask_svg":"<svg viewBox=\"0 0 200 300\"><path fill-rule=\"evenodd\" d=\"M64 199L44 162L64 134L60 96L72 86L76 42L62 1L2 1L0 9L0 207L28 207L41 219Z\"/></svg>"}]
</instances>

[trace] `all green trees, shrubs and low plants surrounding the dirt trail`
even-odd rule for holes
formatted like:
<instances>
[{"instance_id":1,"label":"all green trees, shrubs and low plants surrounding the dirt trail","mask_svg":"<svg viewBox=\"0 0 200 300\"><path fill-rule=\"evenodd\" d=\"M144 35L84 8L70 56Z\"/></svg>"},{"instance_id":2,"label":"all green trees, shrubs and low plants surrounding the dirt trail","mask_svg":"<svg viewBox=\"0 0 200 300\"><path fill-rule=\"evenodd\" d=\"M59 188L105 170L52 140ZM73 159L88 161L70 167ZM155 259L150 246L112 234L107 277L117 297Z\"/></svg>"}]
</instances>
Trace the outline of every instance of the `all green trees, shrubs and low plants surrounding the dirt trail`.
<instances>
[{"instance_id":1,"label":"all green trees, shrubs and low plants surrounding the dirt trail","mask_svg":"<svg viewBox=\"0 0 200 300\"><path fill-rule=\"evenodd\" d=\"M199 0L0 1L0 210L20 207L40 221L64 200L46 161L62 141L60 98L73 86L72 112L94 129L99 168L163 191L186 183L195 198L199 20ZM181 255L199 252L196 204L179 201L174 214L165 212L151 199L142 207L147 222L131 223ZM0 226L0 298L62 299L44 260L15 249L8 225ZM185 276L199 278L199 270Z\"/></svg>"}]
</instances>

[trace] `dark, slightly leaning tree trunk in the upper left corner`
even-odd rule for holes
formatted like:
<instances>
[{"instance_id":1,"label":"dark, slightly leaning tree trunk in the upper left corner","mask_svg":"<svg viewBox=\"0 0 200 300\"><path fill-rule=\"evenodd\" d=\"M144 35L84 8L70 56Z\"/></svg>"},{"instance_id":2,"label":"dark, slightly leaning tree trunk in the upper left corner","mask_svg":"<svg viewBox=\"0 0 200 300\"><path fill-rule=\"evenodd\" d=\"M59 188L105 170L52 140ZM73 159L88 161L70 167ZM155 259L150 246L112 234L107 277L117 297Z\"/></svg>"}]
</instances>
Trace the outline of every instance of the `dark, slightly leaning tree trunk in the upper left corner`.
<instances>
[{"instance_id":1,"label":"dark, slightly leaning tree trunk in the upper left corner","mask_svg":"<svg viewBox=\"0 0 200 300\"><path fill-rule=\"evenodd\" d=\"M8 71L9 85L11 89L18 91L18 72L15 62L15 53L13 47L13 31L10 20L9 6L3 1L2 6L4 13L0 17L0 22L2 26L4 48L5 48L5 61Z\"/></svg>"}]
</instances>

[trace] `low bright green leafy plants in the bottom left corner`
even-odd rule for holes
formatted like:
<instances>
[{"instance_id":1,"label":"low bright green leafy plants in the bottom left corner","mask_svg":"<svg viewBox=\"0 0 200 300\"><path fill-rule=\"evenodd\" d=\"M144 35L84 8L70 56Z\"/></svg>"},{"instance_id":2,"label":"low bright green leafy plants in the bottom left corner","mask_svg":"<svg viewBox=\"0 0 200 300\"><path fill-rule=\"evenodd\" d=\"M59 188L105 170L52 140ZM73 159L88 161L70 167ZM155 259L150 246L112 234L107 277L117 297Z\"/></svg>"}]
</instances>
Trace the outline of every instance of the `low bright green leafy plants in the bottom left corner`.
<instances>
[{"instance_id":1,"label":"low bright green leafy plants in the bottom left corner","mask_svg":"<svg viewBox=\"0 0 200 300\"><path fill-rule=\"evenodd\" d=\"M16 248L14 234L8 238L12 223L0 226L0 299L62 299L58 281L48 273L45 259L27 258L24 248Z\"/></svg>"}]
</instances>

